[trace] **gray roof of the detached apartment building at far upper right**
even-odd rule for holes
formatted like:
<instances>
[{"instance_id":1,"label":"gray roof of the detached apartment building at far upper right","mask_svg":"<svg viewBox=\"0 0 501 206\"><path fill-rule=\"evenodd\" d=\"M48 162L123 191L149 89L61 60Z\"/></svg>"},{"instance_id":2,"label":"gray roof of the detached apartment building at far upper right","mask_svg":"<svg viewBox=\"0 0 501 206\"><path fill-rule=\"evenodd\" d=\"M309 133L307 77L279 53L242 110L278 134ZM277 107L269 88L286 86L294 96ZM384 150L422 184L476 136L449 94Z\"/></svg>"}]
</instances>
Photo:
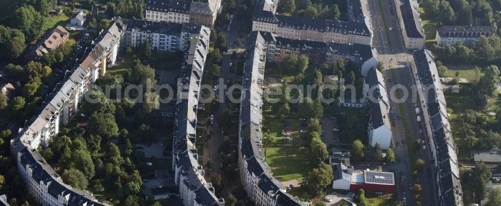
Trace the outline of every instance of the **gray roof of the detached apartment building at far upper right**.
<instances>
[{"instance_id":1,"label":"gray roof of the detached apartment building at far upper right","mask_svg":"<svg viewBox=\"0 0 501 206\"><path fill-rule=\"evenodd\" d=\"M496 30L492 26L441 26L438 28L437 33L441 38L475 38L480 36L489 37L491 35L496 35Z\"/></svg>"}]
</instances>

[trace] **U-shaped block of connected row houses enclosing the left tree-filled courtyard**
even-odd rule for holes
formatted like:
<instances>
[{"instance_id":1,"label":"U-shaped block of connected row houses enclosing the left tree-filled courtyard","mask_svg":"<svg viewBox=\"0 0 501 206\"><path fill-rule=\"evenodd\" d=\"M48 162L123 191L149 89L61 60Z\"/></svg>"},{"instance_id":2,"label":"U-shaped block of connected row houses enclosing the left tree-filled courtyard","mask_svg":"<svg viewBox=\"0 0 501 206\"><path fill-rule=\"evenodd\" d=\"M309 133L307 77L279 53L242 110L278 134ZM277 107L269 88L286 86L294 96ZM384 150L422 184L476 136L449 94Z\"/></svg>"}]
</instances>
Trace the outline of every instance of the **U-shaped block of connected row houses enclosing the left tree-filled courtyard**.
<instances>
[{"instance_id":1,"label":"U-shaped block of connected row houses enclosing the left tree-filled courtyard","mask_svg":"<svg viewBox=\"0 0 501 206\"><path fill-rule=\"evenodd\" d=\"M64 80L48 95L36 115L11 141L11 154L17 161L28 192L43 205L108 205L99 202L87 191L63 183L37 148L47 147L50 138L68 124L71 116L77 113L84 93L97 78L106 73L107 67L113 66L121 47L134 47L150 39L153 40L150 42L152 50L185 51L177 84L178 102L172 151L175 183L179 186L183 203L189 206L224 205L224 200L214 195L211 183L204 179L194 146L197 97L209 36L210 29L201 25L113 19L111 25L96 39L92 49L65 74ZM164 42L170 43L168 47L160 47Z\"/></svg>"}]
</instances>

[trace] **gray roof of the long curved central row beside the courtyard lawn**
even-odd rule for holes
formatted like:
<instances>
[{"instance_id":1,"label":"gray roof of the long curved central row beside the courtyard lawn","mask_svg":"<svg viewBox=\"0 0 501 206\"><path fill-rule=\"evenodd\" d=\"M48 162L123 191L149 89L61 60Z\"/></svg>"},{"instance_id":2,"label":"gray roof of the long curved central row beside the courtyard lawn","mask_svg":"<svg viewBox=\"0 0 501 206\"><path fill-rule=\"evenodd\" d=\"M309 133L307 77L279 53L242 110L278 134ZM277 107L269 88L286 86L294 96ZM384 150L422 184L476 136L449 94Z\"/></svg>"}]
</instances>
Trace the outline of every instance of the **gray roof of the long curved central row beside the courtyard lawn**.
<instances>
[{"instance_id":1,"label":"gray roof of the long curved central row beside the courtyard lawn","mask_svg":"<svg viewBox=\"0 0 501 206\"><path fill-rule=\"evenodd\" d=\"M285 188L271 174L266 164L262 147L262 105L263 81L266 63L266 45L261 32L250 34L246 60L243 68L242 87L245 97L240 103L241 154L247 162L247 169L259 178L258 187L265 194L273 195L278 205L303 205L297 197L285 192ZM242 95L243 97L243 95Z\"/></svg>"}]
</instances>

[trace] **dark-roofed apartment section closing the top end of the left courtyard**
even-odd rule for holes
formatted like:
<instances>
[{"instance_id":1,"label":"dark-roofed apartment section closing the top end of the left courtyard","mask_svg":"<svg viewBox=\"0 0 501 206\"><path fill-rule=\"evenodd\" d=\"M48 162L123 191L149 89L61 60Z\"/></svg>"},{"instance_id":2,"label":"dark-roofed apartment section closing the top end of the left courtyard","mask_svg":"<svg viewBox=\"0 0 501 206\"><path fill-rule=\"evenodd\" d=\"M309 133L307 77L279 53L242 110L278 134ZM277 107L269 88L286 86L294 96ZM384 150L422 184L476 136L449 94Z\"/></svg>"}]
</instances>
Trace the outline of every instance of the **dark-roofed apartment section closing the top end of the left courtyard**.
<instances>
[{"instance_id":1,"label":"dark-roofed apartment section closing the top end of the left courtyard","mask_svg":"<svg viewBox=\"0 0 501 206\"><path fill-rule=\"evenodd\" d=\"M199 34L201 25L188 23L151 22L127 20L125 46L136 47L148 39L154 51L185 51L192 34Z\"/></svg>"}]
</instances>

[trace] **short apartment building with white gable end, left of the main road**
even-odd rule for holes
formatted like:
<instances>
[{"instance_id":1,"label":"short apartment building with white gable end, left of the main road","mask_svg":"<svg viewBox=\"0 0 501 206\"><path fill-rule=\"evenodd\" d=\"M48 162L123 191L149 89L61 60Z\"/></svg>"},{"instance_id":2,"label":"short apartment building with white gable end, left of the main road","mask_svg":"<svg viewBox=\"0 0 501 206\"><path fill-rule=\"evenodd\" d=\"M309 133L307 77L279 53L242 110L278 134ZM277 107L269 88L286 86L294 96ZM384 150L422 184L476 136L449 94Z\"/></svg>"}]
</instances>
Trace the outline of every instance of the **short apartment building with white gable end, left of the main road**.
<instances>
[{"instance_id":1,"label":"short apartment building with white gable end, left of the main road","mask_svg":"<svg viewBox=\"0 0 501 206\"><path fill-rule=\"evenodd\" d=\"M381 72L377 69L369 70L364 78L362 88L368 116L367 137L372 146L379 143L382 149L390 147L392 137L389 115L390 102L386 90Z\"/></svg>"}]
</instances>

